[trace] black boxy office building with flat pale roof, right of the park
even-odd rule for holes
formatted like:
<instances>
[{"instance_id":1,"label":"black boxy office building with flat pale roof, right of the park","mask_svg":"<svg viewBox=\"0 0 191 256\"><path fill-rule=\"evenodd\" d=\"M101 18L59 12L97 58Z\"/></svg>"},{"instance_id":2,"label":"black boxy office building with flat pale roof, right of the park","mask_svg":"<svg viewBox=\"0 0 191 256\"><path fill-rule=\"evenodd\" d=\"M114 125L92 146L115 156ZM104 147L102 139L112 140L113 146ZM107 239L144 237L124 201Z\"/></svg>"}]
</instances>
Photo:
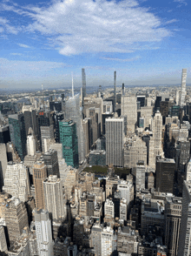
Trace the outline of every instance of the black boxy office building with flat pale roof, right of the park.
<instances>
[{"instance_id":1,"label":"black boxy office building with flat pale roof, right of the park","mask_svg":"<svg viewBox=\"0 0 191 256\"><path fill-rule=\"evenodd\" d=\"M156 158L156 191L174 193L175 160Z\"/></svg>"}]
</instances>

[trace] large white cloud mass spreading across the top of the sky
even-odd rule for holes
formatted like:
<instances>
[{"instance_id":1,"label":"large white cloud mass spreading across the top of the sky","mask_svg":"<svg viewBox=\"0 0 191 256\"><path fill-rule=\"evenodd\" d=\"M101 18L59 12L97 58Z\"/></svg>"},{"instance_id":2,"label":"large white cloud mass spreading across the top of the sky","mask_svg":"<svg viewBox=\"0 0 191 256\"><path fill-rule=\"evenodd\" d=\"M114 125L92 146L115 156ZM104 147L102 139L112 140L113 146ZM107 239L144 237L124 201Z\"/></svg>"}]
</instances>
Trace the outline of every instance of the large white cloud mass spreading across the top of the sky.
<instances>
[{"instance_id":1,"label":"large white cloud mass spreading across the top of the sky","mask_svg":"<svg viewBox=\"0 0 191 256\"><path fill-rule=\"evenodd\" d=\"M66 56L127 53L135 51L134 44L139 49L171 35L160 18L136 0L54 0L43 7L3 5L4 10L30 17L32 22L25 29L48 36L49 44Z\"/></svg>"}]
</instances>

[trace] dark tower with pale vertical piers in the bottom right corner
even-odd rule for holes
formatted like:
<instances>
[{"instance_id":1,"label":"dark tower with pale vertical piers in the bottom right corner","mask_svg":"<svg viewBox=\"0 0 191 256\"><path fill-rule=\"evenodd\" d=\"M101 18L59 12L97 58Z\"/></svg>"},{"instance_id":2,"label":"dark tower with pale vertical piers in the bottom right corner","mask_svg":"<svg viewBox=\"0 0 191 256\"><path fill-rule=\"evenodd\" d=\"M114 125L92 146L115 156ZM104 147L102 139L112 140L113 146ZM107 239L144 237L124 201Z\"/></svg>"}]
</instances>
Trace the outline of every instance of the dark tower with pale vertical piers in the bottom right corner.
<instances>
[{"instance_id":1,"label":"dark tower with pale vertical piers in the bottom right corner","mask_svg":"<svg viewBox=\"0 0 191 256\"><path fill-rule=\"evenodd\" d=\"M181 198L167 197L165 201L165 245L168 255L176 256L181 227Z\"/></svg>"}]
</instances>

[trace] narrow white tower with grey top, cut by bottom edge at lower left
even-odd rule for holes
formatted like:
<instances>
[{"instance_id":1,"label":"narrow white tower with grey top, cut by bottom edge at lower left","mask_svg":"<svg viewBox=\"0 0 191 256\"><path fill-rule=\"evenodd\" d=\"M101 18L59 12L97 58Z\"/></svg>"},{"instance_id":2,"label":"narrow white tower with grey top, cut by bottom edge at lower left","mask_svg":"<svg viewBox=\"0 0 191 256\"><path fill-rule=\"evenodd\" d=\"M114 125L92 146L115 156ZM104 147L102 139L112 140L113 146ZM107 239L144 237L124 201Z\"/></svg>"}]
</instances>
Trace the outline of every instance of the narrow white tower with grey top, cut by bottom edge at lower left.
<instances>
[{"instance_id":1,"label":"narrow white tower with grey top, cut by bottom edge at lower left","mask_svg":"<svg viewBox=\"0 0 191 256\"><path fill-rule=\"evenodd\" d=\"M35 209L34 215L38 254L40 256L52 256L54 253L49 212L46 210L37 211Z\"/></svg>"}]
</instances>

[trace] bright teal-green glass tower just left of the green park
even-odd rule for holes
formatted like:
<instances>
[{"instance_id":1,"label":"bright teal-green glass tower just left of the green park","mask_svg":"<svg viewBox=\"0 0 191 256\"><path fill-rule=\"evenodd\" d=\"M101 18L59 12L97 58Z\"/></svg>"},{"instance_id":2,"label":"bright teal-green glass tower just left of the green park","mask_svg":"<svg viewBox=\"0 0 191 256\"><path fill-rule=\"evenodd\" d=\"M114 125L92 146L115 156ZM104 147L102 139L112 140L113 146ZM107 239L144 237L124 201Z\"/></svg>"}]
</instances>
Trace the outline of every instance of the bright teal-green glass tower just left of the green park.
<instances>
[{"instance_id":1,"label":"bright teal-green glass tower just left of the green park","mask_svg":"<svg viewBox=\"0 0 191 256\"><path fill-rule=\"evenodd\" d=\"M67 165L78 167L78 140L76 124L71 120L59 122L60 141L63 144L63 158Z\"/></svg>"}]
</instances>

